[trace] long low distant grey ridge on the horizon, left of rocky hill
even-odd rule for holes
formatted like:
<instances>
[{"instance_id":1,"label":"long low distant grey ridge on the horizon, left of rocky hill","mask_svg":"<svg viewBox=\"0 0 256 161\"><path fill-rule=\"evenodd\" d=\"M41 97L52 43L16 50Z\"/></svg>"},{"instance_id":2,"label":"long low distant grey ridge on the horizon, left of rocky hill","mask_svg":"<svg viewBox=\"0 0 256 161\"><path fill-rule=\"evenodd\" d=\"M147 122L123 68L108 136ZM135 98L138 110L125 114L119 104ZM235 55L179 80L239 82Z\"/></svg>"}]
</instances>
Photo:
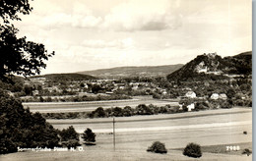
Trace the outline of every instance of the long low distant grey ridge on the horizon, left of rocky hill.
<instances>
[{"instance_id":1,"label":"long low distant grey ridge on the horizon, left of rocky hill","mask_svg":"<svg viewBox=\"0 0 256 161\"><path fill-rule=\"evenodd\" d=\"M102 79L118 79L127 77L166 77L166 75L180 69L183 65L165 66L131 66L100 69L94 71L78 72L78 74L91 75Z\"/></svg>"}]
</instances>

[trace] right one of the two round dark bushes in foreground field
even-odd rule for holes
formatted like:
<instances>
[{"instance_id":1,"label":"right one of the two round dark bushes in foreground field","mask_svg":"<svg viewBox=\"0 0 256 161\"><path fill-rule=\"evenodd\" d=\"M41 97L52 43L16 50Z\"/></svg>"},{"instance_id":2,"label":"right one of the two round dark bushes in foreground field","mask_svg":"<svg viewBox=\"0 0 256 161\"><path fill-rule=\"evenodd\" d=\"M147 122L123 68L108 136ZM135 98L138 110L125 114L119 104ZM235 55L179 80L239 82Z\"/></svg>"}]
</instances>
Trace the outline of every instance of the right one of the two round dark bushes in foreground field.
<instances>
[{"instance_id":1,"label":"right one of the two round dark bushes in foreground field","mask_svg":"<svg viewBox=\"0 0 256 161\"><path fill-rule=\"evenodd\" d=\"M193 158L200 158L202 156L201 146L196 143L189 143L185 147L183 151L183 155L193 157Z\"/></svg>"}]
</instances>

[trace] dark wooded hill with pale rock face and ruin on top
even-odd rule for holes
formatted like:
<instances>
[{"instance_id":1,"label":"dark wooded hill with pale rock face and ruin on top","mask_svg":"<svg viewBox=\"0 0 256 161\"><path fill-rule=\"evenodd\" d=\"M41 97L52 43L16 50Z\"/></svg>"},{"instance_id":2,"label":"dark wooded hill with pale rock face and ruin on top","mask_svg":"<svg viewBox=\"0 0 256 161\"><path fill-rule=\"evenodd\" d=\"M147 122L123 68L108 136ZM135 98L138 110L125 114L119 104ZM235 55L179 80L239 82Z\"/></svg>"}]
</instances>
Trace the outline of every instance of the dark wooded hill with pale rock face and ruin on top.
<instances>
[{"instance_id":1,"label":"dark wooded hill with pale rock face and ruin on top","mask_svg":"<svg viewBox=\"0 0 256 161\"><path fill-rule=\"evenodd\" d=\"M198 55L179 70L170 73L168 80L221 79L229 76L248 76L252 73L252 52L222 58L216 53Z\"/></svg>"}]
</instances>

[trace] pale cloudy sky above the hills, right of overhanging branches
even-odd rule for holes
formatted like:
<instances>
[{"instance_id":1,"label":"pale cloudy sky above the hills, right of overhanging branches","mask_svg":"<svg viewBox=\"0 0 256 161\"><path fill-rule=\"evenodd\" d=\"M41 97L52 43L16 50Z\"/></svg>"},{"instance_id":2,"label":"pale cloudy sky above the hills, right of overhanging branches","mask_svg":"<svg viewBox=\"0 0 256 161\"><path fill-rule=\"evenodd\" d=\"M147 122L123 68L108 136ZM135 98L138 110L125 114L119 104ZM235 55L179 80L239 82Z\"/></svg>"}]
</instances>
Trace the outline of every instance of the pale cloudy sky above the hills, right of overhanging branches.
<instances>
[{"instance_id":1,"label":"pale cloudy sky above the hills, right of overhanging branches","mask_svg":"<svg viewBox=\"0 0 256 161\"><path fill-rule=\"evenodd\" d=\"M185 64L252 50L251 0L33 0L19 36L55 55L41 74Z\"/></svg>"}]
</instances>

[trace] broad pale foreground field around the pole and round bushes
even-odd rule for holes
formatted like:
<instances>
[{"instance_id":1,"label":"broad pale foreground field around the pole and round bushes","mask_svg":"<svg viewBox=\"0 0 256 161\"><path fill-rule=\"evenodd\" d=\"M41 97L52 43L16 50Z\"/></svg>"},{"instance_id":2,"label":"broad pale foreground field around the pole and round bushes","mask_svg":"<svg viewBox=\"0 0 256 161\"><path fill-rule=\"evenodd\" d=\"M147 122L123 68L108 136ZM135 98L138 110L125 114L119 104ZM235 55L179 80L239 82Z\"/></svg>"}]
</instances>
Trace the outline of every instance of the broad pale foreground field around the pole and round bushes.
<instances>
[{"instance_id":1,"label":"broad pale foreground field around the pole and round bushes","mask_svg":"<svg viewBox=\"0 0 256 161\"><path fill-rule=\"evenodd\" d=\"M96 145L83 145L84 151L75 152L19 152L2 155L0 160L252 160L252 155L242 155L241 151L224 151L228 145L239 145L241 150L251 148L252 110L248 108L115 119L115 151L112 118L48 120L57 129L72 125L82 133L91 128L96 132ZM244 131L247 134L243 134ZM156 140L165 144L167 154L146 151ZM182 154L182 149L189 142L202 146L201 158Z\"/></svg>"}]
</instances>

